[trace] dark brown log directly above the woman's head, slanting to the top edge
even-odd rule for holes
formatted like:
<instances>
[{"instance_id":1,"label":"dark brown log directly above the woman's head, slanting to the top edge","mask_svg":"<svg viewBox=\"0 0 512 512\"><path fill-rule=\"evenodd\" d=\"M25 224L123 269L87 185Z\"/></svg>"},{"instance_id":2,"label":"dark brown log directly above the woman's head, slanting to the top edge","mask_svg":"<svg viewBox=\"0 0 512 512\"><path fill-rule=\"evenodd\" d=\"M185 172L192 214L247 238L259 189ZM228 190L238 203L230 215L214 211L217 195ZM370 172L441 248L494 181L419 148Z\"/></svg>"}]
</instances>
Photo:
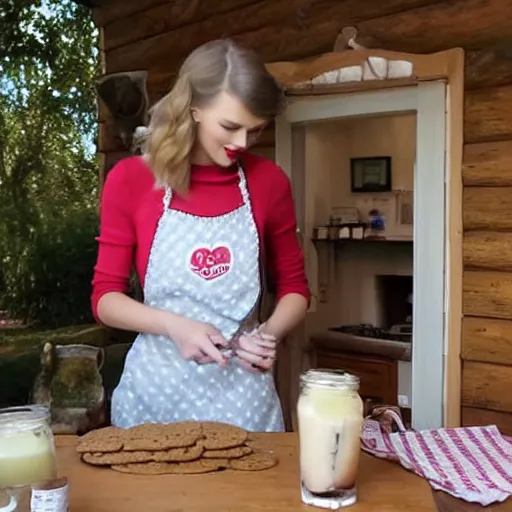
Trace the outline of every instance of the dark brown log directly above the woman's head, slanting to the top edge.
<instances>
[{"instance_id":1,"label":"dark brown log directly above the woman's head, slanting to the top edge","mask_svg":"<svg viewBox=\"0 0 512 512\"><path fill-rule=\"evenodd\" d=\"M300 0L263 0L256 6L240 9L236 20L233 13L219 14L116 48L108 52L108 71L164 66L175 70L192 49L219 37L232 37L254 48L267 62L317 55L332 49L343 25L433 2L442 4L441 0L324 0L317 5Z\"/></svg>"}]
</instances>

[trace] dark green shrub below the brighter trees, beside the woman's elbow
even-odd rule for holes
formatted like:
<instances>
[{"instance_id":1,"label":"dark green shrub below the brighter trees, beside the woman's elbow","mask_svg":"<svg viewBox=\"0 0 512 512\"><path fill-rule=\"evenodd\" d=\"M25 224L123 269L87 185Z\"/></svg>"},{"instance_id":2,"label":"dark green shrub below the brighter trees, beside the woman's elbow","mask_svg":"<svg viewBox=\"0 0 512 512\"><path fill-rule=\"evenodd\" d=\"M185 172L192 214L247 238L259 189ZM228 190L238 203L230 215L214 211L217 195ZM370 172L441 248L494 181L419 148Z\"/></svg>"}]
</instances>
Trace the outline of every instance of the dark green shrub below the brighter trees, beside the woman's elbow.
<instances>
[{"instance_id":1,"label":"dark green shrub below the brighter trees, beside the woman's elbow","mask_svg":"<svg viewBox=\"0 0 512 512\"><path fill-rule=\"evenodd\" d=\"M5 306L17 318L45 326L92 322L90 283L98 230L94 211L51 218L17 260L17 277L5 281Z\"/></svg>"}]
</instances>

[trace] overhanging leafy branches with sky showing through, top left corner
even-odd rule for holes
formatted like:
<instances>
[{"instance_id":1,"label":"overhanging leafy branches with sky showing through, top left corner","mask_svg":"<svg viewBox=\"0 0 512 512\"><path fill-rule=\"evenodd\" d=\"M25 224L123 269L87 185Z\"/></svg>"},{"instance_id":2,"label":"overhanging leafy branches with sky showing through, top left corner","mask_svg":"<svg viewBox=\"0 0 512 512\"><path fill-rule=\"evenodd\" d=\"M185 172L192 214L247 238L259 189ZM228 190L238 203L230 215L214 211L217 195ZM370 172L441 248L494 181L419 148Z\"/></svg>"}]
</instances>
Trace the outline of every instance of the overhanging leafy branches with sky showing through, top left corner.
<instances>
[{"instance_id":1,"label":"overhanging leafy branches with sky showing through, top left corner","mask_svg":"<svg viewBox=\"0 0 512 512\"><path fill-rule=\"evenodd\" d=\"M72 0L0 0L0 26L3 92L12 102L37 102L52 128L91 134L99 58L90 9Z\"/></svg>"}]
</instances>

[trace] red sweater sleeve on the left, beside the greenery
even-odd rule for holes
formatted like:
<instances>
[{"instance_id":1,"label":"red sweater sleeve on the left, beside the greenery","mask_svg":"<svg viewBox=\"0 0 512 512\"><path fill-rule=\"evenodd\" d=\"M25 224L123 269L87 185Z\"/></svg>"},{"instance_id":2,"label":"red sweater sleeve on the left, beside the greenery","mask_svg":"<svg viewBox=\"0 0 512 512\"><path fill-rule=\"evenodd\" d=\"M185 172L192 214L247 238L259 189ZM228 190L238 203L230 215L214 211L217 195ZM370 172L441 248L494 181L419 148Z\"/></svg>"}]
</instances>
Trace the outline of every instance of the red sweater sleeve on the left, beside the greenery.
<instances>
[{"instance_id":1,"label":"red sweater sleeve on the left, beside the greenery","mask_svg":"<svg viewBox=\"0 0 512 512\"><path fill-rule=\"evenodd\" d=\"M136 245L128 167L118 162L103 186L100 209L98 256L92 280L92 311L98 318L98 302L108 292L126 292Z\"/></svg>"}]
</instances>

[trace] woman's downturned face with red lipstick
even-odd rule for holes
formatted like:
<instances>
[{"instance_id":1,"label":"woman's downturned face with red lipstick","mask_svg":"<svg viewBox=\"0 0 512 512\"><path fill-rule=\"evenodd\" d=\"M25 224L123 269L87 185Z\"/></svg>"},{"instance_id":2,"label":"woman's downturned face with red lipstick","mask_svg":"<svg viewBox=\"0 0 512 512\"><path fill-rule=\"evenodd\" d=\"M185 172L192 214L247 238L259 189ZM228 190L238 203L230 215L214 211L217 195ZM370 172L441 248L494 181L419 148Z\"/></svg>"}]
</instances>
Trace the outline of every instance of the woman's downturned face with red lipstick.
<instances>
[{"instance_id":1,"label":"woman's downturned face with red lipstick","mask_svg":"<svg viewBox=\"0 0 512 512\"><path fill-rule=\"evenodd\" d=\"M193 108L197 123L192 163L229 167L238 153L253 145L267 120L252 115L235 96L221 92L208 105Z\"/></svg>"}]
</instances>

